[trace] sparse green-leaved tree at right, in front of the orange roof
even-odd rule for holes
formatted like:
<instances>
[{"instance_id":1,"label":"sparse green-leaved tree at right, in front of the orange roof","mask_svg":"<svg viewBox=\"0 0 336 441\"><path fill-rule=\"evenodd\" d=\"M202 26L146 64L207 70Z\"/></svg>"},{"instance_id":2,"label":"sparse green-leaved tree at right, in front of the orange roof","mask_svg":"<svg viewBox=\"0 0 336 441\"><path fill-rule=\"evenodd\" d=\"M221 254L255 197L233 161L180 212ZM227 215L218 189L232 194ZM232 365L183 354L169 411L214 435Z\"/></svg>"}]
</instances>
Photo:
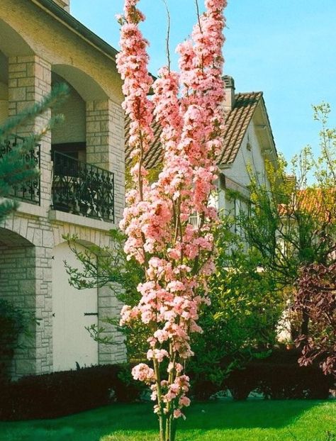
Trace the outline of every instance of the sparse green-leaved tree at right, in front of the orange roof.
<instances>
[{"instance_id":1,"label":"sparse green-leaved tree at right, in front of the orange roof","mask_svg":"<svg viewBox=\"0 0 336 441\"><path fill-rule=\"evenodd\" d=\"M279 167L267 164L269 183L252 176L250 213L240 213L239 220L247 243L262 256L264 271L290 294L292 306L296 300L292 336L300 336L301 343L321 341L324 328L318 305L303 301L309 297L303 292L307 274L312 268L322 274L325 267L334 268L336 251L336 130L327 126L328 104L313 110L322 125L318 155L305 147L293 157L290 176L281 158Z\"/></svg>"}]
</instances>

